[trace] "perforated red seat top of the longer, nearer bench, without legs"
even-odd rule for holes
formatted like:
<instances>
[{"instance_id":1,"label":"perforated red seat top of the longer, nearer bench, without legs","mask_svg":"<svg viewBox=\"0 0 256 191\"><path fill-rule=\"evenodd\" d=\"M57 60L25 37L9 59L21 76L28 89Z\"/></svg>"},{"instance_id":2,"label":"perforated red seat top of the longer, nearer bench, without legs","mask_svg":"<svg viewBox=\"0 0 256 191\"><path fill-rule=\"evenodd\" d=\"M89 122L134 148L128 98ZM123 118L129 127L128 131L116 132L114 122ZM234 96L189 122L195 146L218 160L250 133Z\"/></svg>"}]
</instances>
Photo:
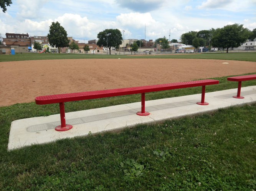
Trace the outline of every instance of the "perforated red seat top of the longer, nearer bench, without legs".
<instances>
[{"instance_id":1,"label":"perforated red seat top of the longer, nearer bench, without legs","mask_svg":"<svg viewBox=\"0 0 256 191\"><path fill-rule=\"evenodd\" d=\"M218 84L218 80L214 79L204 79L196 81L169 83L169 84L158 84L151 86L139 86L139 87L127 87L120 89L109 89L109 90L99 90L99 91L89 91L89 92L78 92L70 94L56 94L56 95L43 95L35 98L36 104L54 104L59 102L70 102L84 99L96 99L102 97L112 97L119 95L128 94L140 94L146 92L163 91L168 89L178 89L184 87L194 87L194 86L206 86L211 84Z\"/></svg>"}]
</instances>

